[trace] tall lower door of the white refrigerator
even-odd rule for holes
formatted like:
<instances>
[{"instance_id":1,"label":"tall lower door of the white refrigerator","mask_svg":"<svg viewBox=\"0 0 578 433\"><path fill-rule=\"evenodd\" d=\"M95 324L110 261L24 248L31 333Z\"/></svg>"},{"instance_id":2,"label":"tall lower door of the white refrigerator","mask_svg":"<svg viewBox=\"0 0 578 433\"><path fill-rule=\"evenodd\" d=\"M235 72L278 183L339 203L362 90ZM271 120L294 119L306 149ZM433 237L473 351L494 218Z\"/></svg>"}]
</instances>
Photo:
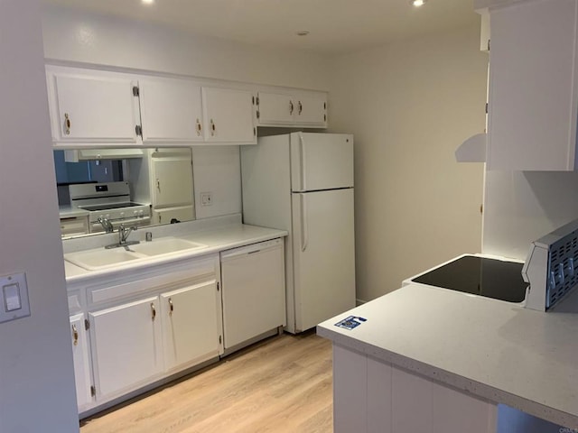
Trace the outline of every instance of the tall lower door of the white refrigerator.
<instances>
[{"instance_id":1,"label":"tall lower door of the white refrigerator","mask_svg":"<svg viewBox=\"0 0 578 433\"><path fill-rule=\"evenodd\" d=\"M295 327L355 307L353 189L294 193Z\"/></svg>"}]
</instances>

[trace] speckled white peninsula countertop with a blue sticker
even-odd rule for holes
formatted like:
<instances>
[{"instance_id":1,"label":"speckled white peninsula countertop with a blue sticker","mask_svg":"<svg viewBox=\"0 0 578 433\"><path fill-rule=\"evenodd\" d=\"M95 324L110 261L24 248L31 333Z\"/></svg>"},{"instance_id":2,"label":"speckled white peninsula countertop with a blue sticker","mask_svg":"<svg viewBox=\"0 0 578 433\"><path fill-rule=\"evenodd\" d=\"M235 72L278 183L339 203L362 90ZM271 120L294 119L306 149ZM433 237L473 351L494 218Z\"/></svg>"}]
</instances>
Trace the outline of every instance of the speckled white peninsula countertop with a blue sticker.
<instances>
[{"instance_id":1,"label":"speckled white peninsula countertop with a blue sticker","mask_svg":"<svg viewBox=\"0 0 578 433\"><path fill-rule=\"evenodd\" d=\"M334 344L578 428L578 290L553 312L410 284L331 318ZM348 316L367 318L352 330Z\"/></svg>"}]
</instances>

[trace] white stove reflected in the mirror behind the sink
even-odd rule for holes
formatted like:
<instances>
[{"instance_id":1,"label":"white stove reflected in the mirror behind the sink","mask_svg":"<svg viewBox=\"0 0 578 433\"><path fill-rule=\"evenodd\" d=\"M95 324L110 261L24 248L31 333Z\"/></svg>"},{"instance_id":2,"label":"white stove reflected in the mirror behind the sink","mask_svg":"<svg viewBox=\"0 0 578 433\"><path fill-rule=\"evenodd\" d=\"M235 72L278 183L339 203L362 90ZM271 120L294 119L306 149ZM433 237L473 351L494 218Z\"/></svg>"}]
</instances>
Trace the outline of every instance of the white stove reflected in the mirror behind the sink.
<instances>
[{"instance_id":1,"label":"white stove reflected in the mirror behind the sink","mask_svg":"<svg viewBox=\"0 0 578 433\"><path fill-rule=\"evenodd\" d=\"M70 206L89 211L90 233L151 224L151 207L130 198L128 182L83 183L69 186ZM109 223L109 225L108 225Z\"/></svg>"}]
</instances>

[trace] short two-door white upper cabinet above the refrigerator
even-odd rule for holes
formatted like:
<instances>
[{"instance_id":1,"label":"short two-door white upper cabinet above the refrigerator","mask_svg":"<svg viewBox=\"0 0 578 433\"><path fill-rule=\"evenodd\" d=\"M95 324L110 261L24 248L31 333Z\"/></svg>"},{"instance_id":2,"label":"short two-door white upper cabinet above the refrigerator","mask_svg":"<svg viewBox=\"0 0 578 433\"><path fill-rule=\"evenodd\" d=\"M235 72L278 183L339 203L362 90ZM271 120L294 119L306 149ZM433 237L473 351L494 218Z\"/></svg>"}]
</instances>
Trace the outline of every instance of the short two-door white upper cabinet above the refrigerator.
<instances>
[{"instance_id":1,"label":"short two-door white upper cabinet above the refrigerator","mask_svg":"<svg viewBox=\"0 0 578 433\"><path fill-rule=\"evenodd\" d=\"M261 126L327 127L327 94L259 92L257 122Z\"/></svg>"}]
</instances>

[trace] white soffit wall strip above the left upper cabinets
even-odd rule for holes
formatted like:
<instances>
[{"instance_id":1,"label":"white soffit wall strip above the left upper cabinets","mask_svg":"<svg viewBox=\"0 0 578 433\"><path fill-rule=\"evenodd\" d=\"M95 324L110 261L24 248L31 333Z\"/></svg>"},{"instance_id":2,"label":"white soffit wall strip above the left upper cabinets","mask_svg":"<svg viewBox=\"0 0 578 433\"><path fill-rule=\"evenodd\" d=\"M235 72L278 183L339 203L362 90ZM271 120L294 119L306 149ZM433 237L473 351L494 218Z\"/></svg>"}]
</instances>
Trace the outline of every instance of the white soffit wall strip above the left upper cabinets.
<instances>
[{"instance_id":1,"label":"white soffit wall strip above the left upper cabinets","mask_svg":"<svg viewBox=\"0 0 578 433\"><path fill-rule=\"evenodd\" d=\"M60 7L44 8L42 32L49 60L321 90L330 71L329 59L315 54L261 49Z\"/></svg>"}]
</instances>

